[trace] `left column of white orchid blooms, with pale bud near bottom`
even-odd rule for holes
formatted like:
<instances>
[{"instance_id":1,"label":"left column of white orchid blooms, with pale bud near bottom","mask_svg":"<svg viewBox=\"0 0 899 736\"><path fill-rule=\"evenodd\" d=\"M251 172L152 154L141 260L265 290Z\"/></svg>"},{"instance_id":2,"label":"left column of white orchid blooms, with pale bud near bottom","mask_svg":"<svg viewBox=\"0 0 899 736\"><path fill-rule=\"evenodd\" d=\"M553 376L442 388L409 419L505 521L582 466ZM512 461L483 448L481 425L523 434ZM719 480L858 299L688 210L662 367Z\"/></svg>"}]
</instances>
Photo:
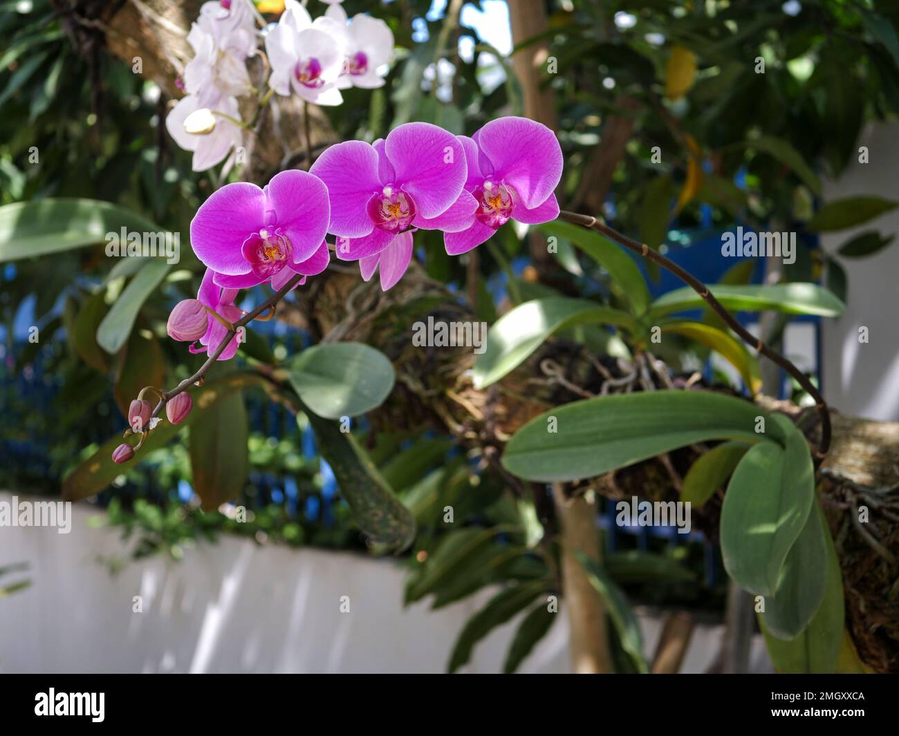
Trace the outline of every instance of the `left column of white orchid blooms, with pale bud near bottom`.
<instances>
[{"instance_id":1,"label":"left column of white orchid blooms, with pale bud near bottom","mask_svg":"<svg viewBox=\"0 0 899 736\"><path fill-rule=\"evenodd\" d=\"M165 127L179 146L193 151L193 170L204 171L241 142L237 98L253 91L246 59L256 52L249 0L202 4L187 40L194 52L184 68L187 94L169 112Z\"/></svg>"}]
</instances>

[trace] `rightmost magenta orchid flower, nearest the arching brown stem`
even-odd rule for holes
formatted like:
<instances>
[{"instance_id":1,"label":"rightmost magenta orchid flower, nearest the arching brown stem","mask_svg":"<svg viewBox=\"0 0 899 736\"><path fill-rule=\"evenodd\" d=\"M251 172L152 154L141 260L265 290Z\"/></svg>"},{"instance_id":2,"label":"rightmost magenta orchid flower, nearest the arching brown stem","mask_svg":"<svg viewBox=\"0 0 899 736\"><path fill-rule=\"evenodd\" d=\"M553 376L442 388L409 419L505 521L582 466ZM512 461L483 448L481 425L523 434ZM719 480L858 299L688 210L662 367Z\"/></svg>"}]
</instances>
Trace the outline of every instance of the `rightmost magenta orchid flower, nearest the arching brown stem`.
<instances>
[{"instance_id":1,"label":"rightmost magenta orchid flower, nearest the arching brown stem","mask_svg":"<svg viewBox=\"0 0 899 736\"><path fill-rule=\"evenodd\" d=\"M562 179L562 149L552 130L509 117L486 123L473 138L458 139L468 164L465 191L476 209L467 226L443 235L449 255L476 248L510 218L537 225L558 217L553 191Z\"/></svg>"}]
</instances>

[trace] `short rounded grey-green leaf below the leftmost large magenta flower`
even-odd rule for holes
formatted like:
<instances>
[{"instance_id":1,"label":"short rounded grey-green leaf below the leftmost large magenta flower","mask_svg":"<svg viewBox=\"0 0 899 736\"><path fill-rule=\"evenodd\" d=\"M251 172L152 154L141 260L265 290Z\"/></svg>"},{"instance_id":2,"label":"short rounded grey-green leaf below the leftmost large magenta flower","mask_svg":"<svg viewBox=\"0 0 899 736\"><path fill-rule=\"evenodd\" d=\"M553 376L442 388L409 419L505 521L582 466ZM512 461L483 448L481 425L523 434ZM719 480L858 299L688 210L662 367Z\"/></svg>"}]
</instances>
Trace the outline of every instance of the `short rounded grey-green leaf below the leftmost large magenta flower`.
<instances>
[{"instance_id":1,"label":"short rounded grey-green leaf below the leftmost large magenta flower","mask_svg":"<svg viewBox=\"0 0 899 736\"><path fill-rule=\"evenodd\" d=\"M360 342L334 342L303 350L288 365L291 385L325 419L359 416L379 406L393 390L387 356Z\"/></svg>"}]
</instances>

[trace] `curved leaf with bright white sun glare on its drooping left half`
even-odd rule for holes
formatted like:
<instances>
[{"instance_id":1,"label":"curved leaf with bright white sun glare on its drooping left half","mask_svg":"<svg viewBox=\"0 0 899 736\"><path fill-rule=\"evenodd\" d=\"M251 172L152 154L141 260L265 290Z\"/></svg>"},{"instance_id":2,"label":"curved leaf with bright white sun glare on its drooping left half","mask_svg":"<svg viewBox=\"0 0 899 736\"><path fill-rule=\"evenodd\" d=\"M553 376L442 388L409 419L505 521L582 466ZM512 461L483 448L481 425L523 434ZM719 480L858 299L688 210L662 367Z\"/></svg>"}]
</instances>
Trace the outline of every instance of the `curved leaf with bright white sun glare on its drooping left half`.
<instances>
[{"instance_id":1,"label":"curved leaf with bright white sun glare on its drooping left half","mask_svg":"<svg viewBox=\"0 0 899 736\"><path fill-rule=\"evenodd\" d=\"M636 329L636 320L627 312L587 299L544 297L525 302L500 317L487 331L485 350L475 358L475 387L490 386L512 372L552 333L585 323Z\"/></svg>"}]
</instances>

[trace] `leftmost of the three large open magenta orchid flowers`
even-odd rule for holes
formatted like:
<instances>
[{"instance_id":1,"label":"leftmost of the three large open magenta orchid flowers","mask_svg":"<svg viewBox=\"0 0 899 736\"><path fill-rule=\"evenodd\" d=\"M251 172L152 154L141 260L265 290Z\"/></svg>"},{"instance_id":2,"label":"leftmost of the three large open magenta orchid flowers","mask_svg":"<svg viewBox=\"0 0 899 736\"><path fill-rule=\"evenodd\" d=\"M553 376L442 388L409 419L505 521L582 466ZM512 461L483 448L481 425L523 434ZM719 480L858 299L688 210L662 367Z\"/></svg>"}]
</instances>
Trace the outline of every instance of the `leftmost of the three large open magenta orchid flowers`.
<instances>
[{"instance_id":1,"label":"leftmost of the three large open magenta orchid flowers","mask_svg":"<svg viewBox=\"0 0 899 736\"><path fill-rule=\"evenodd\" d=\"M325 184L310 173L275 174L265 189L235 182L200 205L191 221L191 245L218 287L270 282L279 289L297 273L325 270L330 214Z\"/></svg>"}]
</instances>

